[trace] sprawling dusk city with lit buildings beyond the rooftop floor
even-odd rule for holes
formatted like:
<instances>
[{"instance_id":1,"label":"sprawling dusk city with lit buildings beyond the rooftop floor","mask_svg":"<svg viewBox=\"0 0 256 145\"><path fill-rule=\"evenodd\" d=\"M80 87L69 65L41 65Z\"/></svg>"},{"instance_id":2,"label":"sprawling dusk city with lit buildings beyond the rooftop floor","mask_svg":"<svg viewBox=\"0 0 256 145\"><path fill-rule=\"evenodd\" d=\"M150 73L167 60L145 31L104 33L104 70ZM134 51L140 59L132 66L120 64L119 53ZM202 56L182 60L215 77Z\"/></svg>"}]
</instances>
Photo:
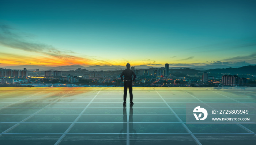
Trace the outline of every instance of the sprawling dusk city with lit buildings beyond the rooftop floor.
<instances>
[{"instance_id":1,"label":"sprawling dusk city with lit buildings beyond the rooftop floor","mask_svg":"<svg viewBox=\"0 0 256 145\"><path fill-rule=\"evenodd\" d=\"M189 68L131 69L136 74L134 87L225 87L255 86L251 74L212 73ZM88 71L78 68L70 71L27 71L0 68L1 85L29 87L123 87L120 74L123 70Z\"/></svg>"}]
</instances>

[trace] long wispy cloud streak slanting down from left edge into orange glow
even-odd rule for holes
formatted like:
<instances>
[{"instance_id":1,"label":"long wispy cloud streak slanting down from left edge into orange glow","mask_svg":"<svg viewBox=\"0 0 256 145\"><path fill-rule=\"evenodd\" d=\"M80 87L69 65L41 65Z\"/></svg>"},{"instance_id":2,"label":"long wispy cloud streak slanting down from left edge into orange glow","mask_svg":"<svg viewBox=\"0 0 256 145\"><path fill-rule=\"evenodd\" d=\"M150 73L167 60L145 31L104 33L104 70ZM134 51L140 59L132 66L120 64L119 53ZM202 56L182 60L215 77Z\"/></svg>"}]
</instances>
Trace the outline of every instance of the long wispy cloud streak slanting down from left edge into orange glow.
<instances>
[{"instance_id":1,"label":"long wispy cloud streak slanting down from left edge into orange glow","mask_svg":"<svg viewBox=\"0 0 256 145\"><path fill-rule=\"evenodd\" d=\"M91 61L91 59L89 59L88 57L84 58L84 57L72 55L75 53L73 51L57 49L57 48L54 48L52 45L38 43L38 42L32 41L32 39L27 40L26 33L17 32L16 29L12 28L9 25L0 24L0 45L4 45L5 47L19 49L27 52L40 53L45 57L50 57L52 59L55 58L55 60L52 61L53 64L59 64L57 63L57 61L65 65L95 64L95 62ZM102 61L102 60L101 60L101 63L109 64L108 62Z\"/></svg>"}]
</instances>

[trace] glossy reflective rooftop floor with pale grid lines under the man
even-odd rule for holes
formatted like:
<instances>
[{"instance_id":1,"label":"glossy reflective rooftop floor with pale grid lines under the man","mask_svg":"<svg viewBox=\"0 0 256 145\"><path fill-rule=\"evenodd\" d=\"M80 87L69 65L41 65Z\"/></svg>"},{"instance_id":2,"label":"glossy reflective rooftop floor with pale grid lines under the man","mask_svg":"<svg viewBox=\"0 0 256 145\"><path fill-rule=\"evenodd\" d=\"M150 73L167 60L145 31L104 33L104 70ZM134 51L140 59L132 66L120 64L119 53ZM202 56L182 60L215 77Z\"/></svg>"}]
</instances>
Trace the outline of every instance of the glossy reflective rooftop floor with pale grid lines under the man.
<instances>
[{"instance_id":1,"label":"glossy reflective rooftop floor with pale grid lines under the man","mask_svg":"<svg viewBox=\"0 0 256 145\"><path fill-rule=\"evenodd\" d=\"M123 88L0 88L0 144L256 142L256 124L185 122L186 103L256 103L256 88L133 88L133 102Z\"/></svg>"}]
</instances>

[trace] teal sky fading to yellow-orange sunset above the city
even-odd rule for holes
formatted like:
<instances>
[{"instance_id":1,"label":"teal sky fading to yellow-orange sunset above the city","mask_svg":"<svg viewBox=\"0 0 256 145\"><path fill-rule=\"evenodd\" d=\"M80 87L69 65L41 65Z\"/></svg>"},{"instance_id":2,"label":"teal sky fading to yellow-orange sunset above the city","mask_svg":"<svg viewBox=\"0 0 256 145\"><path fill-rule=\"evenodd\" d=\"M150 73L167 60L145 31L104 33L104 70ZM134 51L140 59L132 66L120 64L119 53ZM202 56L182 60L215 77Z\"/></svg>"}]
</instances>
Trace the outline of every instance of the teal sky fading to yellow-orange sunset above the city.
<instances>
[{"instance_id":1,"label":"teal sky fading to yellow-orange sunset above the city","mask_svg":"<svg viewBox=\"0 0 256 145\"><path fill-rule=\"evenodd\" d=\"M0 0L0 68L256 64L255 0Z\"/></svg>"}]
</instances>

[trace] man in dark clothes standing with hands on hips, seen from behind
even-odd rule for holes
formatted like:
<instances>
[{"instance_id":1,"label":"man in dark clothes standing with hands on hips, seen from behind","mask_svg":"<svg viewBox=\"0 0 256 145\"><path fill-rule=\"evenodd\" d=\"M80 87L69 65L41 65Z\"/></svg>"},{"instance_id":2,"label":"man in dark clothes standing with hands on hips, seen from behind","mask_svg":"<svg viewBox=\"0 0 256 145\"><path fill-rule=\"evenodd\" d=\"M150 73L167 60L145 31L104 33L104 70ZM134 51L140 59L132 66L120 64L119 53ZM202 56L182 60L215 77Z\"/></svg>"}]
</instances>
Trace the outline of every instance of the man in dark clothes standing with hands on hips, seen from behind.
<instances>
[{"instance_id":1,"label":"man in dark clothes standing with hands on hips, seen from behind","mask_svg":"<svg viewBox=\"0 0 256 145\"><path fill-rule=\"evenodd\" d=\"M129 88L129 94L130 94L130 102L131 105L133 105L132 102L132 82L136 78L136 74L130 69L131 65L128 63L126 64L126 69L121 73L121 80L124 81L124 105L126 103L126 97L127 97L127 87ZM133 75L133 79L132 79ZM124 76L124 80L123 80Z\"/></svg>"}]
</instances>

